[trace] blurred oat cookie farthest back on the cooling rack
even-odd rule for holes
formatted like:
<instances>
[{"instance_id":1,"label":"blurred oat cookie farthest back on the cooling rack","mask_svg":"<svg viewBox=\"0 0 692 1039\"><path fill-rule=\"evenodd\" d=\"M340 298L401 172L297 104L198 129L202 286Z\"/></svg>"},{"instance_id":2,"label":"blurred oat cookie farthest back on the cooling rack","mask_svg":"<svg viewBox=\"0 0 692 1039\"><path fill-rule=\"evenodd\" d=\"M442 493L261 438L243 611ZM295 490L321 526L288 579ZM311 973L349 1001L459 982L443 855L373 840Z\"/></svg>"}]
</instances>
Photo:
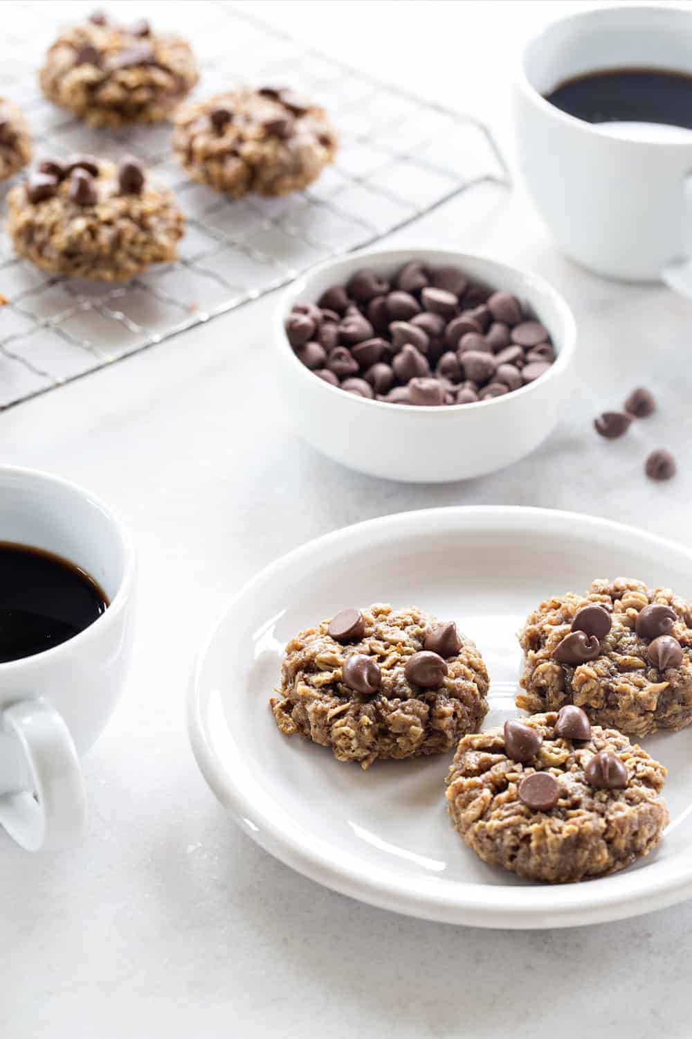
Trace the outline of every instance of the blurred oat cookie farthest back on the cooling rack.
<instances>
[{"instance_id":1,"label":"blurred oat cookie farthest back on the cooling rack","mask_svg":"<svg viewBox=\"0 0 692 1039\"><path fill-rule=\"evenodd\" d=\"M187 41L102 11L61 32L38 74L50 101L92 127L164 119L198 78Z\"/></svg>"}]
</instances>

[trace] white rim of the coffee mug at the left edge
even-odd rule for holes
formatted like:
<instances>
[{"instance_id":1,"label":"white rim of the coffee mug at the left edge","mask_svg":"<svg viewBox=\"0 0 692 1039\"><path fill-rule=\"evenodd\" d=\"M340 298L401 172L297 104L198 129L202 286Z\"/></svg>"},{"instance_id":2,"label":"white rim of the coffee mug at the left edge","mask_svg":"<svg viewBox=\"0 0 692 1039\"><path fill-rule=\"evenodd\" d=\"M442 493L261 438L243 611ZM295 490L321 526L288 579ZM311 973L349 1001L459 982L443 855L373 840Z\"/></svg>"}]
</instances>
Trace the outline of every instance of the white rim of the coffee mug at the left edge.
<instances>
[{"instance_id":1,"label":"white rim of the coffee mug at the left edge","mask_svg":"<svg viewBox=\"0 0 692 1039\"><path fill-rule=\"evenodd\" d=\"M87 490L86 487L83 487L79 483L75 483L73 480L67 480L64 477L55 476L53 473L47 473L39 469L31 469L26 465L0 464L0 482L5 475L28 478L36 483L49 483L53 486L61 487L63 490L70 491L70 494L86 499L93 506L95 506L106 516L109 525L115 532L115 535L120 542L123 555L123 571L117 591L113 595L112 601L108 604L106 610L104 610L104 612L87 628L78 632L77 635L73 635L71 639L66 639L64 642L61 642L60 645L52 646L50 649L41 649L40 652L31 654L29 657L21 657L19 660L1 662L0 677L10 671L29 671L31 668L38 669L43 667L45 663L55 660L57 656L71 651L73 647L81 647L85 645L87 641L99 637L99 633L104 630L105 624L112 624L115 622L116 618L126 608L135 581L135 572L137 568L135 547L128 528L122 524L113 510L109 508L96 495L91 494L91 491ZM16 543L19 544L22 542ZM72 562L74 565L81 565L79 561L76 560L68 560L68 562Z\"/></svg>"}]
</instances>

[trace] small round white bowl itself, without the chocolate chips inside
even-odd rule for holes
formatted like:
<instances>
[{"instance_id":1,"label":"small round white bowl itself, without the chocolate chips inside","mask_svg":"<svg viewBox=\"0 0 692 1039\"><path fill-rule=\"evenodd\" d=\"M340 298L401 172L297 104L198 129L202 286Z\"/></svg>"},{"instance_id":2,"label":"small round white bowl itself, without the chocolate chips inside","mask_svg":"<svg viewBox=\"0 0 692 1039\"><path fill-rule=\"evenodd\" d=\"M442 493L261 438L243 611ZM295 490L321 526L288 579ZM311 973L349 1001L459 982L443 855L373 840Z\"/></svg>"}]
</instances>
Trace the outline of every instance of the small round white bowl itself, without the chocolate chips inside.
<instances>
[{"instance_id":1,"label":"small round white bowl itself, without the chocolate chips inside","mask_svg":"<svg viewBox=\"0 0 692 1039\"><path fill-rule=\"evenodd\" d=\"M521 390L474 404L412 407L366 400L330 385L296 357L284 330L294 303L316 301L360 267L390 276L409 260L458 266L510 292L544 324L556 358ZM303 274L282 293L274 319L279 394L297 432L313 448L370 476L413 483L466 480L510 465L552 432L570 385L576 326L564 299L535 274L446 249L362 249Z\"/></svg>"}]
</instances>

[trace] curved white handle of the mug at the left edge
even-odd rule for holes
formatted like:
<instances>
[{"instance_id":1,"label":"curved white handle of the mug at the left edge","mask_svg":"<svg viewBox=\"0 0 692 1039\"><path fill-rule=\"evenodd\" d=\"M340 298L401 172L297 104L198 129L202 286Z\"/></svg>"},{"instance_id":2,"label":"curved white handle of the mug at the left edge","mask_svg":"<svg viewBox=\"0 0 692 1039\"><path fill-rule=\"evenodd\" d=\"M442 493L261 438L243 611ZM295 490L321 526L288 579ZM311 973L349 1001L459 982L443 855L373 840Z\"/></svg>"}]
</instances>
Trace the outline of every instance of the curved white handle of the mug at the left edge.
<instances>
[{"instance_id":1,"label":"curved white handle of the mug at the left edge","mask_svg":"<svg viewBox=\"0 0 692 1039\"><path fill-rule=\"evenodd\" d=\"M0 729L24 753L28 790L0 796L0 825L27 851L68 848L86 823L84 779L70 729L44 699L21 700L0 714Z\"/></svg>"}]
</instances>

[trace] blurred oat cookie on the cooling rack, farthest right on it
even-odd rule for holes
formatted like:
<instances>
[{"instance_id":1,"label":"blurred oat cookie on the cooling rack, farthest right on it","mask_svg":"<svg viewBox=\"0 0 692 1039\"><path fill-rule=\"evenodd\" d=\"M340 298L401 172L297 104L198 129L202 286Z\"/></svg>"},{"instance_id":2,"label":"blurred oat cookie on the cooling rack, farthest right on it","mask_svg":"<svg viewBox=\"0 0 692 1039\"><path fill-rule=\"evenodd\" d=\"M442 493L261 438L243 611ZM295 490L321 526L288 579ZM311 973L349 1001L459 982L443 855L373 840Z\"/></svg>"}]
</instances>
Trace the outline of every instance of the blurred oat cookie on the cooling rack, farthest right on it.
<instances>
[{"instance_id":1,"label":"blurred oat cookie on the cooling rack, farthest right on it","mask_svg":"<svg viewBox=\"0 0 692 1039\"><path fill-rule=\"evenodd\" d=\"M227 90L175 114L186 172L231 198L299 191L333 161L336 143L324 110L286 87Z\"/></svg>"}]
</instances>

